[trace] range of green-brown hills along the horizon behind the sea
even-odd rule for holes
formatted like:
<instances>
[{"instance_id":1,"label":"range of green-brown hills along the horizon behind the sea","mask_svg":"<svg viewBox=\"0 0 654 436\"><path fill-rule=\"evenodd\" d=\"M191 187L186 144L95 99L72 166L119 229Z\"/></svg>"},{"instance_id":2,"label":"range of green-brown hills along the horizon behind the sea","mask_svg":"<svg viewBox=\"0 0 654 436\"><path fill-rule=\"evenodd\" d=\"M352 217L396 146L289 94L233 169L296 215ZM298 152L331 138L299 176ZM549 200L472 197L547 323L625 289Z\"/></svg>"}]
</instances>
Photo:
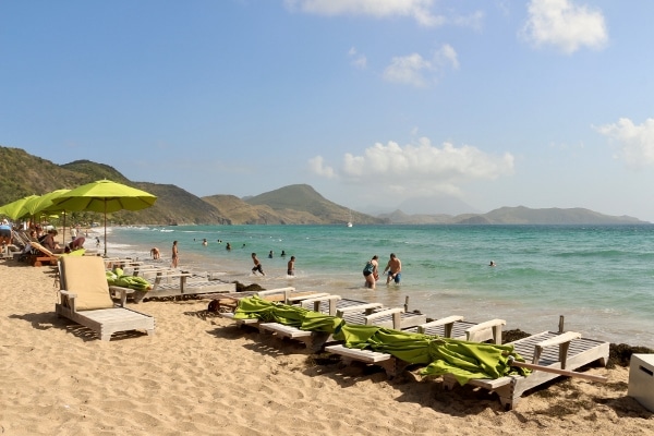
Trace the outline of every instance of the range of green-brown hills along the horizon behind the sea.
<instances>
[{"instance_id":1,"label":"range of green-brown hills along the horizon behind the sea","mask_svg":"<svg viewBox=\"0 0 654 436\"><path fill-rule=\"evenodd\" d=\"M501 207L487 214L408 215L398 209L390 214L371 216L328 201L307 184L294 184L256 196L239 198L233 195L197 197L172 184L133 182L114 168L89 160L56 165L27 154L20 148L0 146L0 205L58 189L73 189L95 180L108 179L157 196L153 207L138 211L121 210L108 216L113 225L342 225L350 219L355 226L376 223L403 225L615 225L643 223L632 217L614 217L583 208L530 209ZM457 208L464 204L441 203ZM408 204L408 206L410 206ZM448 206L448 207L449 207ZM350 218L350 214L351 218ZM100 221L95 213L72 213L70 222Z\"/></svg>"}]
</instances>

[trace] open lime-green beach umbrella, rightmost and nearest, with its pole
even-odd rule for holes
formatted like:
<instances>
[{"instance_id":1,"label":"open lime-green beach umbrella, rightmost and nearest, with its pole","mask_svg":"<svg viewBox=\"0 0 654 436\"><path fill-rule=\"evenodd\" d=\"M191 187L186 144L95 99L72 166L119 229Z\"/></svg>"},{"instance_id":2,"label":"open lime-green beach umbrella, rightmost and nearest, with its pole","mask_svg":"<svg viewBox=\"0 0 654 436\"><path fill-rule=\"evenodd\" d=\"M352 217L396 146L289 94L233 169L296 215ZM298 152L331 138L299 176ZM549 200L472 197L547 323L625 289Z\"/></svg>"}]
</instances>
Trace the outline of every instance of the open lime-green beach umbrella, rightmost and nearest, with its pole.
<instances>
[{"instance_id":1,"label":"open lime-green beach umbrella, rightmost and nearest, with its pole","mask_svg":"<svg viewBox=\"0 0 654 436\"><path fill-rule=\"evenodd\" d=\"M53 201L52 208L90 210L105 214L105 256L107 256L107 214L119 210L141 210L155 204L157 197L145 191L110 180L98 180L75 187Z\"/></svg>"}]
</instances>

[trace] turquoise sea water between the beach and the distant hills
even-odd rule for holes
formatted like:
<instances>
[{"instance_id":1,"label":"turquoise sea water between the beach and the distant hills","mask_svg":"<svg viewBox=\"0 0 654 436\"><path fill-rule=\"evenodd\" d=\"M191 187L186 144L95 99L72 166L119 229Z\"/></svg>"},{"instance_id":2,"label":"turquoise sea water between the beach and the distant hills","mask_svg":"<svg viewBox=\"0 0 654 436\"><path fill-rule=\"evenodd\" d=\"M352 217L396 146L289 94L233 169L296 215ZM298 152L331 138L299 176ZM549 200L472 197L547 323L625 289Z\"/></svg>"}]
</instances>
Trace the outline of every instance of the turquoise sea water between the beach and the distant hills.
<instances>
[{"instance_id":1,"label":"turquoise sea water between the beach and the distant hills","mask_svg":"<svg viewBox=\"0 0 654 436\"><path fill-rule=\"evenodd\" d=\"M202 244L207 239L208 245ZM220 272L266 289L294 286L403 305L429 317L507 320L529 332L558 328L654 348L654 226L174 226L113 228L109 255L149 257ZM218 242L218 241L221 242ZM225 249L227 242L231 251ZM287 257L280 257L286 251ZM274 257L268 253L274 251ZM254 277L256 252L266 277ZM363 266L393 252L402 282L363 287ZM287 277L294 255L295 277ZM491 259L497 263L489 267Z\"/></svg>"}]
</instances>

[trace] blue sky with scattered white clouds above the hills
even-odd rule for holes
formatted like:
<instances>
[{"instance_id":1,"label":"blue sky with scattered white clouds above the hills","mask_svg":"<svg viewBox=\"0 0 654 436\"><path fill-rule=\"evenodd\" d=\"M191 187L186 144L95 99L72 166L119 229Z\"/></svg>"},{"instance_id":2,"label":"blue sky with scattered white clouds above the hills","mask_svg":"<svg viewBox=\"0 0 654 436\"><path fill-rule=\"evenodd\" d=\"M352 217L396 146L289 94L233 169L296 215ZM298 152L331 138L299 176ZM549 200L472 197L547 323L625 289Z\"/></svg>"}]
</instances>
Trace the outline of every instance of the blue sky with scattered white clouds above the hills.
<instances>
[{"instance_id":1,"label":"blue sky with scattered white clouds above the hills","mask_svg":"<svg viewBox=\"0 0 654 436\"><path fill-rule=\"evenodd\" d=\"M2 0L0 145L197 196L305 183L364 213L455 198L654 221L652 16L651 0Z\"/></svg>"}]
</instances>

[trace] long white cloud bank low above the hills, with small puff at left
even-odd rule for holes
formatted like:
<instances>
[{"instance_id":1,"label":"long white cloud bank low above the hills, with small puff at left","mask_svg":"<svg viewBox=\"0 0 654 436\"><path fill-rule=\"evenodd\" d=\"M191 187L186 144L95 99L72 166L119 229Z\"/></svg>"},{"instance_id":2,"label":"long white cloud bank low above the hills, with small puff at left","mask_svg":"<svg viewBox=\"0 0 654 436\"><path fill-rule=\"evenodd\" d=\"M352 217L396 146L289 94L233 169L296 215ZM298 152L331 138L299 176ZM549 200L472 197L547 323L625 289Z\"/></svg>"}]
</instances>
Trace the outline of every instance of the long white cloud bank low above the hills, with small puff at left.
<instances>
[{"instance_id":1,"label":"long white cloud bank low above the hills, with small puff at left","mask_svg":"<svg viewBox=\"0 0 654 436\"><path fill-rule=\"evenodd\" d=\"M433 194L457 192L459 184L474 180L494 180L513 172L513 156L488 155L476 147L455 147L444 143L433 146L426 137L417 145L400 146L395 142L377 143L363 155L346 154L338 172L346 181L384 185L395 192ZM320 174L323 158L312 159L314 172ZM319 162L318 166L315 164Z\"/></svg>"}]
</instances>

